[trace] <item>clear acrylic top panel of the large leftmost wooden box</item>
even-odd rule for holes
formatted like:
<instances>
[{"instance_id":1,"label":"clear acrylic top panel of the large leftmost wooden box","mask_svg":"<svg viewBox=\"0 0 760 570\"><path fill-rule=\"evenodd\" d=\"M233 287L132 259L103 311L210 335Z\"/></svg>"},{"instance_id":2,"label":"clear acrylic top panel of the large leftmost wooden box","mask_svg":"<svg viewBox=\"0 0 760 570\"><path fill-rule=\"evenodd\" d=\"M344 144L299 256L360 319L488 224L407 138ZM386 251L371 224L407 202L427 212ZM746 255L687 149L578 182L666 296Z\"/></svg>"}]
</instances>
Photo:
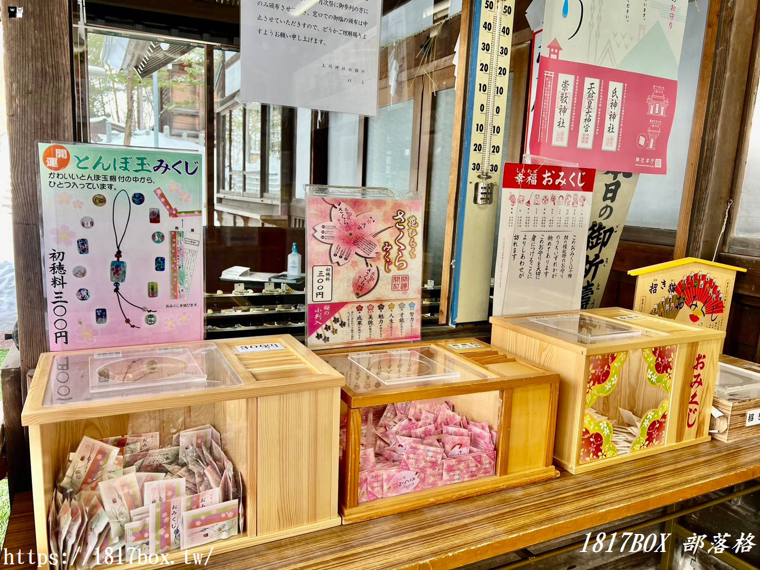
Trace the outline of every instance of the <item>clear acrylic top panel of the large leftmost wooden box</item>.
<instances>
[{"instance_id":1,"label":"clear acrylic top panel of the large leftmost wooden box","mask_svg":"<svg viewBox=\"0 0 760 570\"><path fill-rule=\"evenodd\" d=\"M43 406L242 385L213 343L135 347L53 357Z\"/></svg>"}]
</instances>

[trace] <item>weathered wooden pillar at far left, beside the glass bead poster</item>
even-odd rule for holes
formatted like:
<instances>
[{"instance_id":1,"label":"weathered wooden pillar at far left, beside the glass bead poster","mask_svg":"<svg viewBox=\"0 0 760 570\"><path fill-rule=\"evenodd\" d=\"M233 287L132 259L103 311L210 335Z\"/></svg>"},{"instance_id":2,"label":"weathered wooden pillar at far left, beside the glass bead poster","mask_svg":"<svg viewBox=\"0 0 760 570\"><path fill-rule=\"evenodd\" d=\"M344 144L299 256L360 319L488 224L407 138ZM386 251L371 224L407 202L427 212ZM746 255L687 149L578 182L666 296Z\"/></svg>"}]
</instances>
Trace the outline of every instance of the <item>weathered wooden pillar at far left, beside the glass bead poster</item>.
<instances>
[{"instance_id":1,"label":"weathered wooden pillar at far left, beside the glass bead poster","mask_svg":"<svg viewBox=\"0 0 760 570\"><path fill-rule=\"evenodd\" d=\"M11 155L14 263L21 378L48 350L45 331L37 141L71 141L71 14L67 0L27 2L24 17L11 19L0 0L5 57L5 100ZM24 397L26 385L22 382Z\"/></svg>"}]
</instances>

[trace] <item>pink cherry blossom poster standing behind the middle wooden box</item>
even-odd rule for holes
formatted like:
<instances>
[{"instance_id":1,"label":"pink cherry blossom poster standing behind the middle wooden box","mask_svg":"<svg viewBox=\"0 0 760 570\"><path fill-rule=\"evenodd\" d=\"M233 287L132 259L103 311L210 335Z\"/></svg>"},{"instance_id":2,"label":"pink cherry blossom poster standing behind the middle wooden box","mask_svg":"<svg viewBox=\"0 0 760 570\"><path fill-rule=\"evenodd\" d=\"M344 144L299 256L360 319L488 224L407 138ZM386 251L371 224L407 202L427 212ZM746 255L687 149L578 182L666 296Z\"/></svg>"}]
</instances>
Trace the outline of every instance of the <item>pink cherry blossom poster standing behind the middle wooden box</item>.
<instances>
[{"instance_id":1,"label":"pink cherry blossom poster standing behind the middle wooden box","mask_svg":"<svg viewBox=\"0 0 760 570\"><path fill-rule=\"evenodd\" d=\"M418 340L423 204L391 192L306 195L306 345Z\"/></svg>"}]
</instances>

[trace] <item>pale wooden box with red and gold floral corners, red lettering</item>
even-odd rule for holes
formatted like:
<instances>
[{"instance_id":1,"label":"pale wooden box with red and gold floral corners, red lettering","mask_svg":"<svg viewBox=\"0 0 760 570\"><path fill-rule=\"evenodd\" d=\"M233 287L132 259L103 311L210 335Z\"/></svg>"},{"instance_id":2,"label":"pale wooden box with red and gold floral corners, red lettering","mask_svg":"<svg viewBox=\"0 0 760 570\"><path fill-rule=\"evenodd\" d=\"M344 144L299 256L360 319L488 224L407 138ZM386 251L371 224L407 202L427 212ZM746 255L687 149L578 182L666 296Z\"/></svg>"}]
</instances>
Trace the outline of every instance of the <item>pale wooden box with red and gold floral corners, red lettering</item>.
<instances>
[{"instance_id":1,"label":"pale wooden box with red and gold floral corners, red lettering","mask_svg":"<svg viewBox=\"0 0 760 570\"><path fill-rule=\"evenodd\" d=\"M491 322L494 346L562 378L554 458L571 473L710 439L724 332L628 309Z\"/></svg>"}]
</instances>

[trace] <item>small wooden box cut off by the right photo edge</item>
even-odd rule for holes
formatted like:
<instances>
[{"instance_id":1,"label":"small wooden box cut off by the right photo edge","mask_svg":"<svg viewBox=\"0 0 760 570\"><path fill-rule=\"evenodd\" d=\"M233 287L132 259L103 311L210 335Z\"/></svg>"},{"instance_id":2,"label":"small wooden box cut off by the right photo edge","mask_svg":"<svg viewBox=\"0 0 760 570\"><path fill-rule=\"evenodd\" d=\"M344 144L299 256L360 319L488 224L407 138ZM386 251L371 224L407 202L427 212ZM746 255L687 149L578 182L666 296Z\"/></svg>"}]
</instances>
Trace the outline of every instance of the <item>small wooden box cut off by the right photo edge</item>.
<instances>
[{"instance_id":1,"label":"small wooden box cut off by the right photo edge","mask_svg":"<svg viewBox=\"0 0 760 570\"><path fill-rule=\"evenodd\" d=\"M721 354L713 407L714 439L730 443L760 436L760 364Z\"/></svg>"}]
</instances>

